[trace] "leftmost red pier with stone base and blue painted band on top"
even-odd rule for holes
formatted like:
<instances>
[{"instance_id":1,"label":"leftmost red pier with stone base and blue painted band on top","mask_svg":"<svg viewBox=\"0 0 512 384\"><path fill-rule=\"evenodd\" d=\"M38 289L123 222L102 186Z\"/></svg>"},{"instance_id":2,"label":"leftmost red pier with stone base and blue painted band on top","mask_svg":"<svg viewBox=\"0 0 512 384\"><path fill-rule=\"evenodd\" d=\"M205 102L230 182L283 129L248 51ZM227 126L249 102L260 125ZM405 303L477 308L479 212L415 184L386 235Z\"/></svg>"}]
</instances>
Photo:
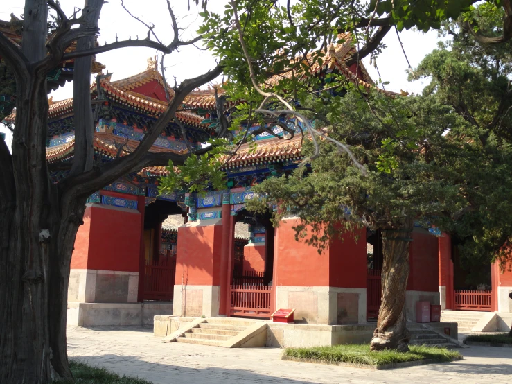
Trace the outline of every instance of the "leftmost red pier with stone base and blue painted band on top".
<instances>
[{"instance_id":1,"label":"leftmost red pier with stone base and blue painted band on top","mask_svg":"<svg viewBox=\"0 0 512 384\"><path fill-rule=\"evenodd\" d=\"M134 303L141 270L139 197L101 193L103 204L87 204L76 235L68 301Z\"/></svg>"}]
</instances>

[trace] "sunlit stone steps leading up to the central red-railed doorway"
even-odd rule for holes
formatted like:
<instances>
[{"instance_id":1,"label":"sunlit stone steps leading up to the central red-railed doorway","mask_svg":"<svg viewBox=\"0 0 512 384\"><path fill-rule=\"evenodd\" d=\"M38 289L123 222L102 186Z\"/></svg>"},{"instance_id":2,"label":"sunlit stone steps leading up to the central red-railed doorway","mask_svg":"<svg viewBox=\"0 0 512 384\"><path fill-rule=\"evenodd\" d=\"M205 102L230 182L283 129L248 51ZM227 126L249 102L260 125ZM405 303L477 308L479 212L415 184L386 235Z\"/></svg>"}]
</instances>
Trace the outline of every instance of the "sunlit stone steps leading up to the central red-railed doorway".
<instances>
[{"instance_id":1,"label":"sunlit stone steps leading up to the central red-railed doorway","mask_svg":"<svg viewBox=\"0 0 512 384\"><path fill-rule=\"evenodd\" d=\"M176 338L176 341L220 347L257 321L231 317L211 318L206 320L206 322L197 324L190 331L183 333L183 335Z\"/></svg>"}]
</instances>

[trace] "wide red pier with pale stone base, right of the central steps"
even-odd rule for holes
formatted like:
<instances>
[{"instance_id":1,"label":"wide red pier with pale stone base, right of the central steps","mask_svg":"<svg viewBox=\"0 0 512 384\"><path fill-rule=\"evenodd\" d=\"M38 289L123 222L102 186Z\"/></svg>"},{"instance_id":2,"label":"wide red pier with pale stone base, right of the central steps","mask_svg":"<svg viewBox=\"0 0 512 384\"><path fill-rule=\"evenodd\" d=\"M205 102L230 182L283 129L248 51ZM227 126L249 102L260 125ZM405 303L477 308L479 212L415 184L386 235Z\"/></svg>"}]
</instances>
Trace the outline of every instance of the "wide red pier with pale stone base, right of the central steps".
<instances>
[{"instance_id":1,"label":"wide red pier with pale stone base, right of the central steps","mask_svg":"<svg viewBox=\"0 0 512 384\"><path fill-rule=\"evenodd\" d=\"M294 308L296 322L357 324L366 322L367 245L365 230L333 240L319 254L295 241L299 218L286 218L274 237L275 308Z\"/></svg>"}]
</instances>

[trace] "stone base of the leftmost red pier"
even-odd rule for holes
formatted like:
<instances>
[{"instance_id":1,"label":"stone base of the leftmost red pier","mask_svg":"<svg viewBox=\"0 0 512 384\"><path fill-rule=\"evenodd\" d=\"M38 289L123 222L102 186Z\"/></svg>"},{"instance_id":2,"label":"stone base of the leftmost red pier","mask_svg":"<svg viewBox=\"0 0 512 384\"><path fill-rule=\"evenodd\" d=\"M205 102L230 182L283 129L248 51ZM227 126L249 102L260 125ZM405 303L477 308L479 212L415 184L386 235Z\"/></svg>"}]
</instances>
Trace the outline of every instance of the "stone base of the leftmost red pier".
<instances>
[{"instance_id":1,"label":"stone base of the leftmost red pier","mask_svg":"<svg viewBox=\"0 0 512 384\"><path fill-rule=\"evenodd\" d=\"M139 272L77 270L69 274L68 301L136 303Z\"/></svg>"}]
</instances>

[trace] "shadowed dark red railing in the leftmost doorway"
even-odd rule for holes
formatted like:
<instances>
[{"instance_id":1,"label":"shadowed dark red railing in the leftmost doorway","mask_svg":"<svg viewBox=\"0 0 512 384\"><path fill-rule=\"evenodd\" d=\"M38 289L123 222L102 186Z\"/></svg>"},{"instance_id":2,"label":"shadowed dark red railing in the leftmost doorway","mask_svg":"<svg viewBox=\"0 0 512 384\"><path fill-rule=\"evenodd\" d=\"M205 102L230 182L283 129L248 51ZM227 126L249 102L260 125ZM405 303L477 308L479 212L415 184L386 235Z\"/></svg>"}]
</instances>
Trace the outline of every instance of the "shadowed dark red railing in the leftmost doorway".
<instances>
[{"instance_id":1,"label":"shadowed dark red railing in the leftmost doorway","mask_svg":"<svg viewBox=\"0 0 512 384\"><path fill-rule=\"evenodd\" d=\"M174 295L176 258L164 256L159 261L146 262L144 299L170 302Z\"/></svg>"}]
</instances>

